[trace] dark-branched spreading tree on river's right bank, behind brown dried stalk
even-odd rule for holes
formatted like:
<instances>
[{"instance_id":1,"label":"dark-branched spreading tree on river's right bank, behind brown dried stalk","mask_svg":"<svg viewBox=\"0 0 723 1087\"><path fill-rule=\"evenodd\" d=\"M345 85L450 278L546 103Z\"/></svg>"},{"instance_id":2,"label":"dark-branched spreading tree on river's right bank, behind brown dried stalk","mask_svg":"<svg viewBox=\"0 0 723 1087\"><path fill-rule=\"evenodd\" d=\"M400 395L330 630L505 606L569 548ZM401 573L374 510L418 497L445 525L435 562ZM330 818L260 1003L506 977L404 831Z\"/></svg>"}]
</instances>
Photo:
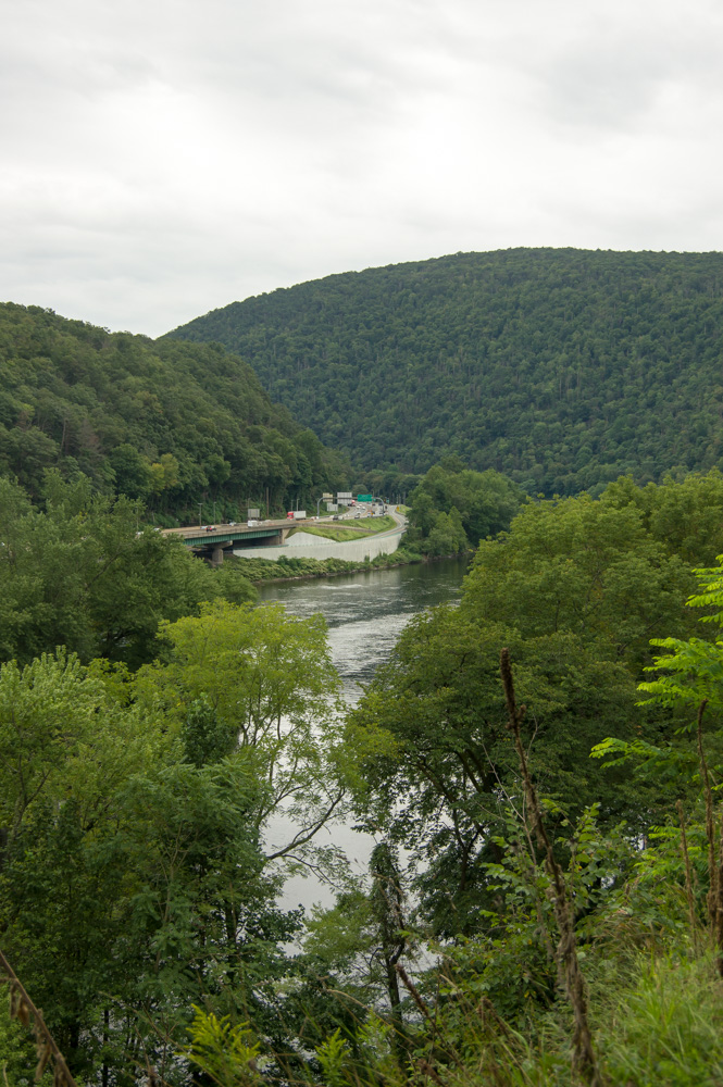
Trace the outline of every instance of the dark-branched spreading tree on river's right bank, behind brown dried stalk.
<instances>
[{"instance_id":1,"label":"dark-branched spreading tree on river's right bank, behind brown dried stalk","mask_svg":"<svg viewBox=\"0 0 723 1087\"><path fill-rule=\"evenodd\" d=\"M606 736L637 735L635 684L620 662L570 633L524 639L461 609L415 617L352 713L350 742L359 752L369 745L357 786L362 825L385 827L410 851L423 912L447 936L473 930L483 904L496 908L486 864L499 859L496 836L520 796L502 646L516 661L539 787L557 809L573 817L596 799L615 822L645 803L624 775L606 777L589 759Z\"/></svg>"}]
</instances>

